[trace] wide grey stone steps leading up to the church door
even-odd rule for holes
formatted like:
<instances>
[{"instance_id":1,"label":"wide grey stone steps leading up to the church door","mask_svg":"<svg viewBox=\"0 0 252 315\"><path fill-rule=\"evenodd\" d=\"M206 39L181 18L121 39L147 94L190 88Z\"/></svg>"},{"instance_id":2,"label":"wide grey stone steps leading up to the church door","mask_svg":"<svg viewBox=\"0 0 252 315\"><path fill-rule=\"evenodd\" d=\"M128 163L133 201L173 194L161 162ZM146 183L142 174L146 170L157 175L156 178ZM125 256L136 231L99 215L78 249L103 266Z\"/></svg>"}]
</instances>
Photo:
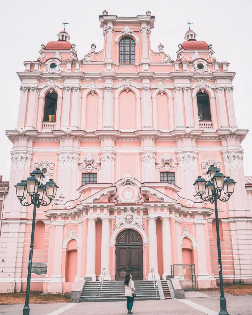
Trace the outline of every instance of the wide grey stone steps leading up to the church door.
<instances>
[{"instance_id":1,"label":"wide grey stone steps leading up to the church door","mask_svg":"<svg viewBox=\"0 0 252 315\"><path fill-rule=\"evenodd\" d=\"M134 281L136 289L135 301L160 300L159 292L153 281ZM99 298L99 281L87 281L80 296L80 302L125 301L123 281L104 281Z\"/></svg>"}]
</instances>

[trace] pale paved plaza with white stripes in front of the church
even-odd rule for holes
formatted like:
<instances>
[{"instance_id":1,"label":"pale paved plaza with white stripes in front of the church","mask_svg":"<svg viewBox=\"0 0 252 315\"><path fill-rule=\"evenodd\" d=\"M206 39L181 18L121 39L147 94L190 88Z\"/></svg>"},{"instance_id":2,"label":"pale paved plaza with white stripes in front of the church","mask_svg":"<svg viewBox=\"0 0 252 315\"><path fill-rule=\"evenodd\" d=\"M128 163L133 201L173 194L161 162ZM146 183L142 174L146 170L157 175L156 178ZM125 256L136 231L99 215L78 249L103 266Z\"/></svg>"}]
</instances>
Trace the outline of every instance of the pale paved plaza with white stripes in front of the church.
<instances>
[{"instance_id":1,"label":"pale paved plaza with white stripes in front of the church","mask_svg":"<svg viewBox=\"0 0 252 315\"><path fill-rule=\"evenodd\" d=\"M206 297L183 300L135 301L134 315L218 315L219 297L215 292L204 292ZM197 296L197 295L196 295ZM226 294L230 315L252 315L252 295ZM124 315L125 302L47 303L31 304L30 315ZM22 314L23 305L0 305L0 314Z\"/></svg>"}]
</instances>

